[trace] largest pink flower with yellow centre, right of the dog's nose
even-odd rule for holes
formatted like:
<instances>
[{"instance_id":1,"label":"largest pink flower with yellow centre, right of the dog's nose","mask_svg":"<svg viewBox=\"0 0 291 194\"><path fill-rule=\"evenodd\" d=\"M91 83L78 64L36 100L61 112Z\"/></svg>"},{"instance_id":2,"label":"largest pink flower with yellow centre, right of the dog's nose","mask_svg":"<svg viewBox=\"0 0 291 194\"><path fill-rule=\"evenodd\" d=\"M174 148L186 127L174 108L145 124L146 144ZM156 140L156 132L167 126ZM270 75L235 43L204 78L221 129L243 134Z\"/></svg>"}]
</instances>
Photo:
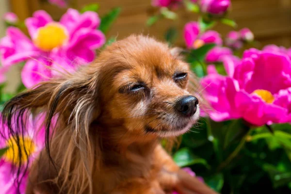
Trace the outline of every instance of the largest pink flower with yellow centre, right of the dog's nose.
<instances>
[{"instance_id":1,"label":"largest pink flower with yellow centre, right of the dog's nose","mask_svg":"<svg viewBox=\"0 0 291 194\"><path fill-rule=\"evenodd\" d=\"M291 60L287 55L250 49L241 60L226 60L224 65L227 76L214 72L201 81L213 108L211 119L243 118L256 126L290 122Z\"/></svg>"}]
</instances>

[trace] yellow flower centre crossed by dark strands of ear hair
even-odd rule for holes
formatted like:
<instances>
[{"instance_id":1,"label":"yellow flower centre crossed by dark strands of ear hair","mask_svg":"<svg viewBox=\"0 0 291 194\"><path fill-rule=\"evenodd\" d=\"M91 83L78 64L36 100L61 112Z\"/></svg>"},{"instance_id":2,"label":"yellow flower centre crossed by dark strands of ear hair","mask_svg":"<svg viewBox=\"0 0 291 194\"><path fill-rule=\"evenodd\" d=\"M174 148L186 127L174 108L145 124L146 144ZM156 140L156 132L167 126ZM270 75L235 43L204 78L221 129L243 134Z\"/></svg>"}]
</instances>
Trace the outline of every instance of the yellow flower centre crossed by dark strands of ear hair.
<instances>
[{"instance_id":1,"label":"yellow flower centre crossed by dark strands of ear hair","mask_svg":"<svg viewBox=\"0 0 291 194\"><path fill-rule=\"evenodd\" d=\"M4 154L4 159L11 163L19 163L19 149L16 143L15 137L10 137L7 142L6 146L8 149ZM21 163L26 162L28 157L32 155L35 151L35 144L33 143L30 137L19 137L19 146L21 151Z\"/></svg>"}]
</instances>

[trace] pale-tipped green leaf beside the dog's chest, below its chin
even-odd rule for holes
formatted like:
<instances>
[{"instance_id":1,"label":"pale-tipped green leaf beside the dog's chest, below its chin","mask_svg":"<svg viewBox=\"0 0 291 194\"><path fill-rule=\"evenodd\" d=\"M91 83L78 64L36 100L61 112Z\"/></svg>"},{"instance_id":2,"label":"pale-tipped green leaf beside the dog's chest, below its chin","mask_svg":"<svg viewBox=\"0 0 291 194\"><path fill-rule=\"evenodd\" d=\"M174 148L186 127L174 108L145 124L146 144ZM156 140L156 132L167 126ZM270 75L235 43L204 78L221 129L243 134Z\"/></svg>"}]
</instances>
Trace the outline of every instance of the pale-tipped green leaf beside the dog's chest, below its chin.
<instances>
[{"instance_id":1,"label":"pale-tipped green leaf beside the dog's chest, below its chin","mask_svg":"<svg viewBox=\"0 0 291 194\"><path fill-rule=\"evenodd\" d=\"M190 166L193 164L203 164L207 168L210 166L208 165L207 161L196 157L189 148L184 147L182 149L179 149L173 156L174 161L177 163L178 166L183 167L183 166Z\"/></svg>"}]
</instances>

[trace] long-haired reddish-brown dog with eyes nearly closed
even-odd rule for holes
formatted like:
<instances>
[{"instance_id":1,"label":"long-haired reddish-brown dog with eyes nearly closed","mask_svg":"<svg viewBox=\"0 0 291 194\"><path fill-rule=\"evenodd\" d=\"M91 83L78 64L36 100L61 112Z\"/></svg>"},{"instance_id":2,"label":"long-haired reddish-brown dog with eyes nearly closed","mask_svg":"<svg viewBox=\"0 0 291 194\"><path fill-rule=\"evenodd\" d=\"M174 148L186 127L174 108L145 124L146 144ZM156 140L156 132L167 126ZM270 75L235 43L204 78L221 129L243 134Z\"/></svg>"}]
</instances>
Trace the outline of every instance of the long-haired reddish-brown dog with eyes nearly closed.
<instances>
[{"instance_id":1,"label":"long-haired reddish-brown dog with eyes nearly closed","mask_svg":"<svg viewBox=\"0 0 291 194\"><path fill-rule=\"evenodd\" d=\"M179 50L131 35L96 62L8 101L2 119L15 134L14 116L46 113L46 148L30 167L26 193L215 194L160 144L199 118L199 84Z\"/></svg>"}]
</instances>

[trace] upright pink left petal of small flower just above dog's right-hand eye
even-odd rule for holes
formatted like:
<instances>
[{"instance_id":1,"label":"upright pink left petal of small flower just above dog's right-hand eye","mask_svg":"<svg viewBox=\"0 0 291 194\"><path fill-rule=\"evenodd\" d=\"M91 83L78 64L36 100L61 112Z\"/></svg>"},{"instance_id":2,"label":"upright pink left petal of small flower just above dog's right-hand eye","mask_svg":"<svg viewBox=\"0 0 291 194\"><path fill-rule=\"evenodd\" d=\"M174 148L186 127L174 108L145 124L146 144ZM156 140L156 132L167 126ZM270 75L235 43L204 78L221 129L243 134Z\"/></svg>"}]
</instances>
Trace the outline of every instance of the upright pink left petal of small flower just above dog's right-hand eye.
<instances>
[{"instance_id":1,"label":"upright pink left petal of small flower just above dog's right-hand eye","mask_svg":"<svg viewBox=\"0 0 291 194\"><path fill-rule=\"evenodd\" d=\"M200 33L199 24L197 22L189 22L184 27L184 39L186 46L192 48L194 41L197 39L198 34Z\"/></svg>"}]
</instances>

